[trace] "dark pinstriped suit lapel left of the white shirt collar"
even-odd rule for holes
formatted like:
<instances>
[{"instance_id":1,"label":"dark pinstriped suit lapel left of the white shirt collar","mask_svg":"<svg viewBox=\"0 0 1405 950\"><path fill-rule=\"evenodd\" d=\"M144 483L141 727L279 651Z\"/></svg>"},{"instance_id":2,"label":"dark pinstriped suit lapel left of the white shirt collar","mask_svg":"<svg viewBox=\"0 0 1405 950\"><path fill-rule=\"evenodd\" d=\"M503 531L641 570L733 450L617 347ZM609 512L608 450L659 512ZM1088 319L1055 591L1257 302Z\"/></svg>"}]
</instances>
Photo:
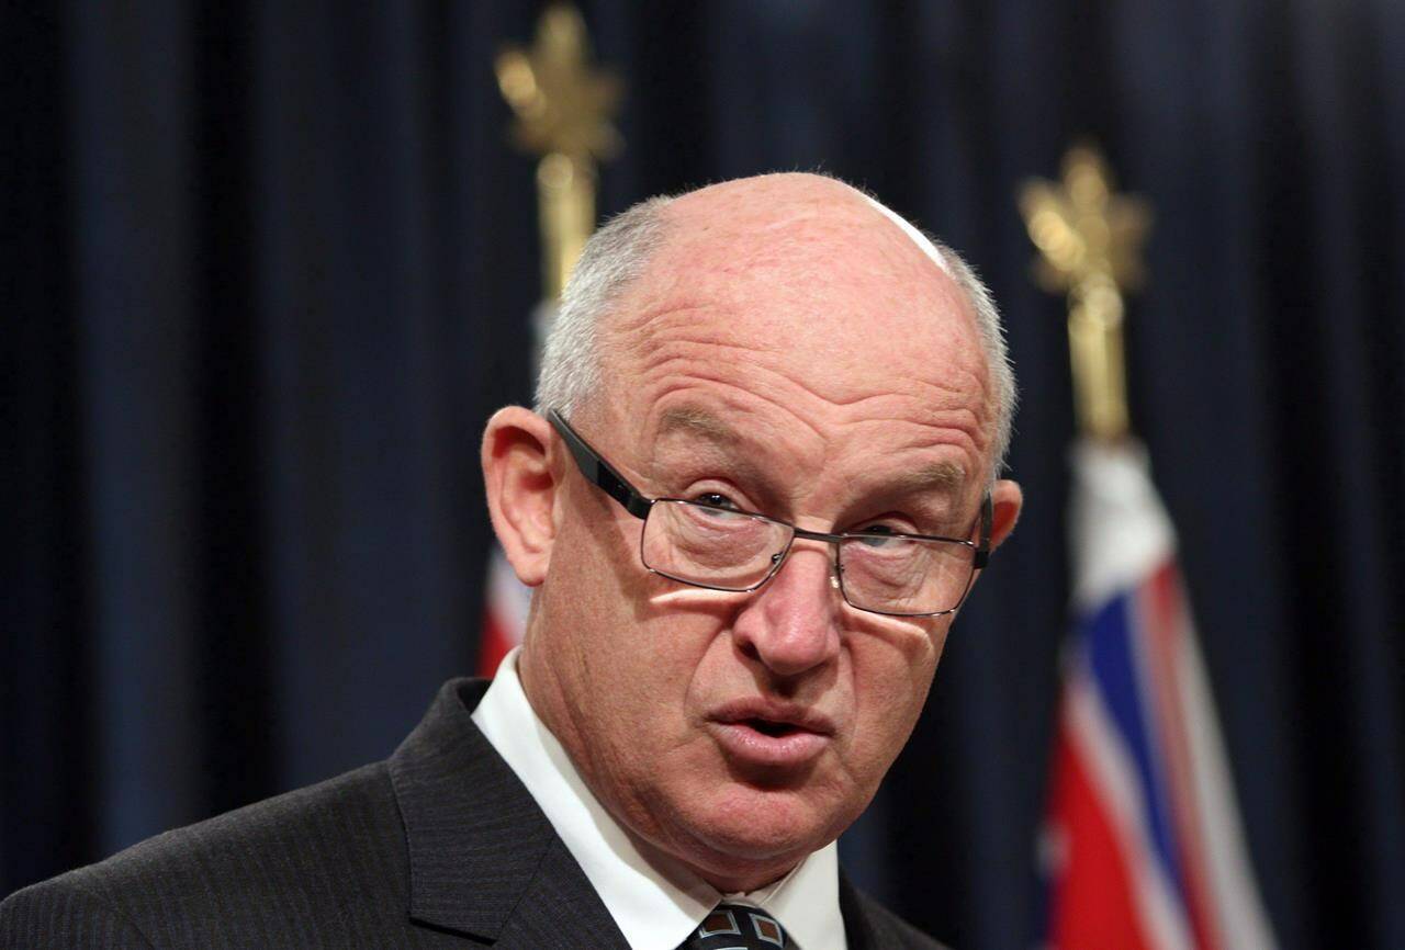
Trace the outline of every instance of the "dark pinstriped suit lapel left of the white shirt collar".
<instances>
[{"instance_id":1,"label":"dark pinstriped suit lapel left of the white shirt collar","mask_svg":"<svg viewBox=\"0 0 1405 950\"><path fill-rule=\"evenodd\" d=\"M455 679L391 756L410 916L513 947L628 950L584 871L471 718L488 681Z\"/></svg>"}]
</instances>

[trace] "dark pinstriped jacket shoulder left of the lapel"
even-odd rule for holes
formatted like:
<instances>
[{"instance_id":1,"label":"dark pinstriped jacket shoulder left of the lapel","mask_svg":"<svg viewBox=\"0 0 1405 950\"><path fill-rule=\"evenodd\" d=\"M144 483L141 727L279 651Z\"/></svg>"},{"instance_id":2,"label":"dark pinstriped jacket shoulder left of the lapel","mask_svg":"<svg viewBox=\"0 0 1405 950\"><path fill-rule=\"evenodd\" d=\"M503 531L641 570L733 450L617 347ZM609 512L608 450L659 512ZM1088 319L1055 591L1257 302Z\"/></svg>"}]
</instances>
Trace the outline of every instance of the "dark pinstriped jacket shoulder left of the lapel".
<instances>
[{"instance_id":1,"label":"dark pinstriped jacket shoulder left of the lapel","mask_svg":"<svg viewBox=\"0 0 1405 950\"><path fill-rule=\"evenodd\" d=\"M306 943L319 921L403 916L406 863L386 766L371 765L25 888L0 904L0 947Z\"/></svg>"}]
</instances>

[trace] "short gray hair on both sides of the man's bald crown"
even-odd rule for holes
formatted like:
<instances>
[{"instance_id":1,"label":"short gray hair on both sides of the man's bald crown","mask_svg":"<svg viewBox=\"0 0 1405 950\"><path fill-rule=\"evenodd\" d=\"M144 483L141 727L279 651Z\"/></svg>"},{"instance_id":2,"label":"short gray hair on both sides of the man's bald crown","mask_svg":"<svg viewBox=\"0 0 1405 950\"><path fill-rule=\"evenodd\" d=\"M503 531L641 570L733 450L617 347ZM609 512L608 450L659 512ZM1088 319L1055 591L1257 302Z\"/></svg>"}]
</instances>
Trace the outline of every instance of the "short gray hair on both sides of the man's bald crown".
<instances>
[{"instance_id":1,"label":"short gray hair on both sides of the man's bald crown","mask_svg":"<svg viewBox=\"0 0 1405 950\"><path fill-rule=\"evenodd\" d=\"M995 396L991 452L995 463L991 467L993 480L1005 470L1017 399L1014 369L1010 366L1005 328L995 299L960 254L923 234L871 196L864 196L932 257L961 288L975 312L976 331L985 349ZM586 241L542 347L541 372L537 376L538 413L555 408L570 418L572 413L597 392L601 382L597 327L620 296L643 274L653 253L663 244L665 209L672 201L672 196L662 195L639 202L613 218Z\"/></svg>"}]
</instances>

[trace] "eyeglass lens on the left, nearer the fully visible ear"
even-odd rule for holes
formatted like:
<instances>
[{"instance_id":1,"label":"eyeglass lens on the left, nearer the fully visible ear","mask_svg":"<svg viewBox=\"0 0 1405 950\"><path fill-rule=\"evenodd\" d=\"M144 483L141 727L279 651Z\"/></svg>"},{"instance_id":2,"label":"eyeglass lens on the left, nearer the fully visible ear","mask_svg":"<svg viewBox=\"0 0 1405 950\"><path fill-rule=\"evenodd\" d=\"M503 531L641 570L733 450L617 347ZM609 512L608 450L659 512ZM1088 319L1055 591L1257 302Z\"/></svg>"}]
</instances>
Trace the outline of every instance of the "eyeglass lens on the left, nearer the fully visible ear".
<instances>
[{"instance_id":1,"label":"eyeglass lens on the left, nearer the fully visible ear","mask_svg":"<svg viewBox=\"0 0 1405 950\"><path fill-rule=\"evenodd\" d=\"M643 564L690 584L745 591L785 551L785 525L691 501L656 501L643 522Z\"/></svg>"}]
</instances>

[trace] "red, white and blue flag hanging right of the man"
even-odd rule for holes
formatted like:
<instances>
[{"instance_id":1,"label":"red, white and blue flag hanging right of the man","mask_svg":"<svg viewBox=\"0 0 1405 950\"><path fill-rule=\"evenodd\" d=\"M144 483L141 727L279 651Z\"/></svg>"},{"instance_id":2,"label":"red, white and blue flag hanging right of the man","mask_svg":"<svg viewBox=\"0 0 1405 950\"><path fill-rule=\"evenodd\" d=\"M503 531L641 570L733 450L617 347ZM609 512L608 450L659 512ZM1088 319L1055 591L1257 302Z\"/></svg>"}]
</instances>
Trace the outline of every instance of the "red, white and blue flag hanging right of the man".
<instances>
[{"instance_id":1,"label":"red, white and blue flag hanging right of the man","mask_svg":"<svg viewBox=\"0 0 1405 950\"><path fill-rule=\"evenodd\" d=\"M1175 532L1138 446L1075 446L1071 525L1043 946L1272 949Z\"/></svg>"}]
</instances>

